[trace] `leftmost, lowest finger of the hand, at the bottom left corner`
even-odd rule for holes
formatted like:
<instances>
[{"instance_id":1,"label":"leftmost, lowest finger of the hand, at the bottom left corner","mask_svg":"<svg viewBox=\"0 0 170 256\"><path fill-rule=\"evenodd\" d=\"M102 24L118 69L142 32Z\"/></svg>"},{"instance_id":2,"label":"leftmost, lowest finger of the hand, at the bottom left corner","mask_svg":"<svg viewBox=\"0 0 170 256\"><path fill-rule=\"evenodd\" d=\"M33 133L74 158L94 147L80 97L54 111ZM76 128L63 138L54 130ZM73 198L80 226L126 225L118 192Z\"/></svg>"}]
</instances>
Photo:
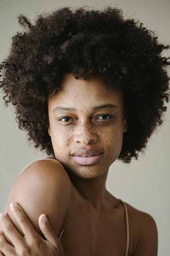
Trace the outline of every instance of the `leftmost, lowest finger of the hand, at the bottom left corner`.
<instances>
[{"instance_id":1,"label":"leftmost, lowest finger of the hand, at the bottom left corner","mask_svg":"<svg viewBox=\"0 0 170 256\"><path fill-rule=\"evenodd\" d=\"M0 252L3 256L16 256L16 250L15 247L13 247L12 245L8 244L7 240L5 239L5 236L3 234L3 232L0 230Z\"/></svg>"}]
</instances>

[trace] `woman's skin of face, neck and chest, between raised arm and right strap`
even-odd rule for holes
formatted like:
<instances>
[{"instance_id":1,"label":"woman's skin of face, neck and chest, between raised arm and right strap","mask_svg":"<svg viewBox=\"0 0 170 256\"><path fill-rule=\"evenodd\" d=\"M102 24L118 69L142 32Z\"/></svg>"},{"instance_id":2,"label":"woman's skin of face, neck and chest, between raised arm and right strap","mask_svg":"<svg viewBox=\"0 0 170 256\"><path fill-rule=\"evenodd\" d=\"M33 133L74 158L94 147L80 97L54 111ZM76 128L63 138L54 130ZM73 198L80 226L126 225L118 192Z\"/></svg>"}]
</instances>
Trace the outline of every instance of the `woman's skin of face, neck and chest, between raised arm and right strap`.
<instances>
[{"instance_id":1,"label":"woman's skin of face, neck and chest, between raised arm and right strap","mask_svg":"<svg viewBox=\"0 0 170 256\"><path fill-rule=\"evenodd\" d=\"M117 105L119 110L91 110L106 103ZM127 131L123 103L121 91L106 88L101 77L84 81L70 73L65 74L60 91L49 97L48 128L54 159L64 165L72 183L69 218L61 237L65 255L67 250L69 255L111 255L113 251L115 255L125 255L124 207L106 190L109 167L118 158L123 132ZM53 114L57 106L77 111ZM114 117L102 119L101 115L106 114ZM71 119L58 121L65 116ZM82 147L100 149L104 156L95 164L80 165L70 154Z\"/></svg>"}]
</instances>

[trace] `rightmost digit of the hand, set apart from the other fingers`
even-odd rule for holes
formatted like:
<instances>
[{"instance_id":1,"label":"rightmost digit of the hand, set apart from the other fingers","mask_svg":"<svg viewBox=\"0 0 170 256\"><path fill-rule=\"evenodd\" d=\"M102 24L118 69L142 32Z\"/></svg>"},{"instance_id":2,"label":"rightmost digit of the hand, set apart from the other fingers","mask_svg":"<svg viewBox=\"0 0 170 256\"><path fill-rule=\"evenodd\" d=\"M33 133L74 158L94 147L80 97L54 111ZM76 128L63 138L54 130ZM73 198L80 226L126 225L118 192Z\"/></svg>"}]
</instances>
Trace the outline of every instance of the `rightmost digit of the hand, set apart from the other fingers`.
<instances>
[{"instance_id":1,"label":"rightmost digit of the hand, set apart from the other fingers","mask_svg":"<svg viewBox=\"0 0 170 256\"><path fill-rule=\"evenodd\" d=\"M43 213L38 219L39 228L45 236L46 240L49 241L54 247L57 247L57 242L60 241L52 229L47 216Z\"/></svg>"}]
</instances>

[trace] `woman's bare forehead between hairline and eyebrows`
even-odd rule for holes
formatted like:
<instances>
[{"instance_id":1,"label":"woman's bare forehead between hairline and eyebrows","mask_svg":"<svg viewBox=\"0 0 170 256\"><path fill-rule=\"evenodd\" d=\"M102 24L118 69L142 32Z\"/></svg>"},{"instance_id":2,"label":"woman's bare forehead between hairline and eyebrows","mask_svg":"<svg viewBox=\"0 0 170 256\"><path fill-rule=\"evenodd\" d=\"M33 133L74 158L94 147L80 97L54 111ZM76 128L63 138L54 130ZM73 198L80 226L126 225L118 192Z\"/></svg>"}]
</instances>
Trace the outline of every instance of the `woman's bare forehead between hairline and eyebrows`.
<instances>
[{"instance_id":1,"label":"woman's bare forehead between hairline and eyebrows","mask_svg":"<svg viewBox=\"0 0 170 256\"><path fill-rule=\"evenodd\" d=\"M110 103L122 105L124 95L119 88L108 88L103 78L94 74L92 79L76 79L72 73L65 73L57 94L49 97L50 104L92 104ZM91 104L91 105L92 105ZM96 105L96 104L95 104Z\"/></svg>"}]
</instances>

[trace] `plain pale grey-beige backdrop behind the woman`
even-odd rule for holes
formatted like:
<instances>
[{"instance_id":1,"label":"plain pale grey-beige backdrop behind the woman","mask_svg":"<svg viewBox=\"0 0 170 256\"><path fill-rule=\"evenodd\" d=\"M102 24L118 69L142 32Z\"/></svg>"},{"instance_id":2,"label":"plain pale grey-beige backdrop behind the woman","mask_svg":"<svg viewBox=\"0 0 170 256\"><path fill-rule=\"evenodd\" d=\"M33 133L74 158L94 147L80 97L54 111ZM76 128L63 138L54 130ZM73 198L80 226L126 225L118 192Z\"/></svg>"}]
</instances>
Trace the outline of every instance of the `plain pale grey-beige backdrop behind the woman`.
<instances>
[{"instance_id":1,"label":"plain pale grey-beige backdrop behind the woman","mask_svg":"<svg viewBox=\"0 0 170 256\"><path fill-rule=\"evenodd\" d=\"M100 9L110 4L122 8L126 15L138 19L148 29L158 31L162 43L170 44L169 0L0 0L0 62L6 59L10 38L20 31L19 14L34 19L36 13L65 5ZM163 56L169 57L170 50L164 51ZM18 128L12 107L5 107L3 96L0 93L0 213L5 210L10 189L23 168L36 159L48 157L27 142L26 132ZM170 255L170 104L166 106L165 122L150 138L145 155L139 153L138 161L133 159L130 164L116 160L106 180L106 188L112 195L155 219L158 256Z\"/></svg>"}]
</instances>

